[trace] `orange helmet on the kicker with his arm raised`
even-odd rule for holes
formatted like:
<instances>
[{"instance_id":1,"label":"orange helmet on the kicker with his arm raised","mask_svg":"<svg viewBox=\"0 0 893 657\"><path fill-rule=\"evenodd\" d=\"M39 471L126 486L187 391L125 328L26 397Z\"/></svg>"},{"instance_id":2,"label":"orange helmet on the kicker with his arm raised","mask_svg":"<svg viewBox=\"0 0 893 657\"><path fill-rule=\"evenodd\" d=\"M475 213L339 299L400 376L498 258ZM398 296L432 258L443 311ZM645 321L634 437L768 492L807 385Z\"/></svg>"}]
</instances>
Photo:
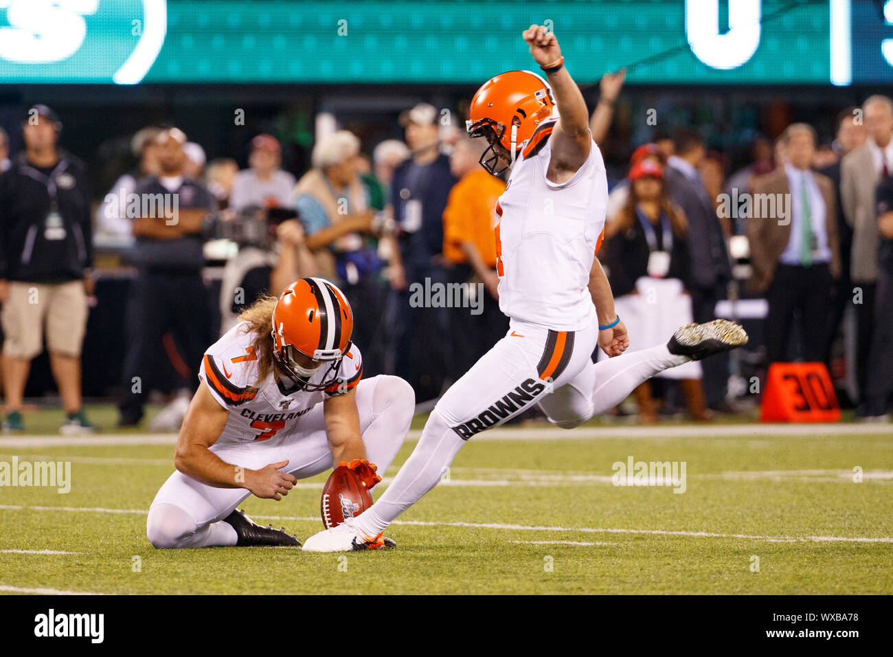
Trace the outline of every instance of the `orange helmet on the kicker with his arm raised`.
<instances>
[{"instance_id":1,"label":"orange helmet on the kicker with his arm raised","mask_svg":"<svg viewBox=\"0 0 893 657\"><path fill-rule=\"evenodd\" d=\"M548 132L540 129L555 114L555 98L548 82L534 72L509 71L490 78L478 89L469 108L465 130L472 138L485 137L490 147L480 156L480 165L489 173L503 173L522 147L533 147ZM538 133L538 139L529 142ZM495 143L504 147L511 163L496 170Z\"/></svg>"}]
</instances>

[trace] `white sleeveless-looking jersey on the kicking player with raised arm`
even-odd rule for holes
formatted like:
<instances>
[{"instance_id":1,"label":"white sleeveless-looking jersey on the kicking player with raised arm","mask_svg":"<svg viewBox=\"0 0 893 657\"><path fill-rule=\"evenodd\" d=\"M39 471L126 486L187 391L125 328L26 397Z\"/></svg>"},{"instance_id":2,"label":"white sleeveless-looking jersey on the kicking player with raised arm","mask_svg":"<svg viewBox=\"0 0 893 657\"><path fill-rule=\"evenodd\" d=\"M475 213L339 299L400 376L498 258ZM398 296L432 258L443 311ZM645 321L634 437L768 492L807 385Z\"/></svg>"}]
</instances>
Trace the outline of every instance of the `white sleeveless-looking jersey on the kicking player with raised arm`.
<instances>
[{"instance_id":1,"label":"white sleeveless-looking jersey on the kicking player with raised arm","mask_svg":"<svg viewBox=\"0 0 893 657\"><path fill-rule=\"evenodd\" d=\"M518 156L497 202L499 309L525 323L580 331L596 321L588 282L605 228L605 162L593 142L572 178L555 184L546 178L551 156L551 138Z\"/></svg>"}]
</instances>

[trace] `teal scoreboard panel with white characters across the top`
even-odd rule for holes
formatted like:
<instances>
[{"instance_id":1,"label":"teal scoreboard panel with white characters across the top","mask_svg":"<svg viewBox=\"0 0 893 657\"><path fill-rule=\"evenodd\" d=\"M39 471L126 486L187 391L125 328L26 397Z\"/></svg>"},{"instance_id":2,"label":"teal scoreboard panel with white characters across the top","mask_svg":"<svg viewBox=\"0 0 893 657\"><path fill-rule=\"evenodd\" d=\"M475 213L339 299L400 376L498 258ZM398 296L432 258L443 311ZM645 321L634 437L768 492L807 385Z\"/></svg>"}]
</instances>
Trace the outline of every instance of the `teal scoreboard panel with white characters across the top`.
<instances>
[{"instance_id":1,"label":"teal scoreboard panel with white characters across the top","mask_svg":"<svg viewBox=\"0 0 893 657\"><path fill-rule=\"evenodd\" d=\"M893 82L893 0L0 0L0 84L478 84L530 23L581 82Z\"/></svg>"}]
</instances>

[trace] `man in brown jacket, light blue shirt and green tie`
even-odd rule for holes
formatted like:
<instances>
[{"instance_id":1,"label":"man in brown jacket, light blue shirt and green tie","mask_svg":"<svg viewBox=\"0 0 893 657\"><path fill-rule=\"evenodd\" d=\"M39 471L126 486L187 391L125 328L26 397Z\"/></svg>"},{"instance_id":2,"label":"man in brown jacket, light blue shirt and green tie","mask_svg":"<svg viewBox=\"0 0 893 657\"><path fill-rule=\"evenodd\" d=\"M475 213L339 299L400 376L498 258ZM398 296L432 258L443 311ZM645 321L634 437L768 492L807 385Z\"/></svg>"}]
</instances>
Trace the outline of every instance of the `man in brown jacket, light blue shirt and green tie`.
<instances>
[{"instance_id":1,"label":"man in brown jacket, light blue shirt and green tie","mask_svg":"<svg viewBox=\"0 0 893 657\"><path fill-rule=\"evenodd\" d=\"M840 274L834 185L809 168L815 131L806 123L793 123L780 141L787 162L755 178L747 217L751 285L769 301L767 366L789 359L786 348L797 310L803 357L822 359L831 283ZM761 216L760 208L771 206L764 198L775 199L775 216Z\"/></svg>"}]
</instances>

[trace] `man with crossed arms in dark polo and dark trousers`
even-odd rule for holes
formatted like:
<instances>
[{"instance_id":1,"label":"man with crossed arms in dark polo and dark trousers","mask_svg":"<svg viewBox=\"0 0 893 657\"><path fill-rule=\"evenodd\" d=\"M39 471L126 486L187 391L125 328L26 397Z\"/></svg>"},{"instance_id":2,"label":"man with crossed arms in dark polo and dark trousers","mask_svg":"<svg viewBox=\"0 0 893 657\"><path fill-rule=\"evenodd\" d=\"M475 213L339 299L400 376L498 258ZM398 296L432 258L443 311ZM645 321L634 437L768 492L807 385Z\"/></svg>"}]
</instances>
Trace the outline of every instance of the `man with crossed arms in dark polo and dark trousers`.
<instances>
[{"instance_id":1,"label":"man with crossed arms in dark polo and dark trousers","mask_svg":"<svg viewBox=\"0 0 893 657\"><path fill-rule=\"evenodd\" d=\"M169 128L155 138L160 172L139 181L135 193L143 214L133 220L137 276L126 317L127 352L121 378L119 425L137 425L149 392L151 358L165 333L179 339L184 358L171 353L190 387L208 344L207 296L202 282L202 224L215 203L204 183L186 173L186 135ZM153 204L146 201L152 199ZM158 200L162 199L161 204ZM174 350L175 351L175 350ZM183 414L191 393L178 396ZM184 403L185 402L185 403Z\"/></svg>"}]
</instances>

